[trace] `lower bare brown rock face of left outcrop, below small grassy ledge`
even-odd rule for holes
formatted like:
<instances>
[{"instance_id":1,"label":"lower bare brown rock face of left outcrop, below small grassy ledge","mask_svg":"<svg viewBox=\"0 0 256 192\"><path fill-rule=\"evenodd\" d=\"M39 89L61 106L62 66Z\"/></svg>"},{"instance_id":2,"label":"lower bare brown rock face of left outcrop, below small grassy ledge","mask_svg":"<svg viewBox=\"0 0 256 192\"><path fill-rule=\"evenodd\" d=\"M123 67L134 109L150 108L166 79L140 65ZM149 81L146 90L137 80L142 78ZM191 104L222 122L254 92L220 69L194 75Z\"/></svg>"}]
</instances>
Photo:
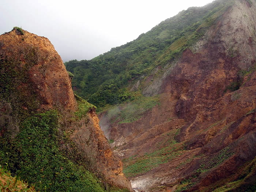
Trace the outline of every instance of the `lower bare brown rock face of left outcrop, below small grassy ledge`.
<instances>
[{"instance_id":1,"label":"lower bare brown rock face of left outcrop, below small grassy ledge","mask_svg":"<svg viewBox=\"0 0 256 192\"><path fill-rule=\"evenodd\" d=\"M86 158L90 169L99 173L99 176L102 174L106 182L132 191L130 182L123 174L123 163L113 154L108 140L99 127L99 119L95 111L91 110L88 116L88 123L81 120L79 122L81 126L74 127L71 135L78 151Z\"/></svg>"}]
</instances>

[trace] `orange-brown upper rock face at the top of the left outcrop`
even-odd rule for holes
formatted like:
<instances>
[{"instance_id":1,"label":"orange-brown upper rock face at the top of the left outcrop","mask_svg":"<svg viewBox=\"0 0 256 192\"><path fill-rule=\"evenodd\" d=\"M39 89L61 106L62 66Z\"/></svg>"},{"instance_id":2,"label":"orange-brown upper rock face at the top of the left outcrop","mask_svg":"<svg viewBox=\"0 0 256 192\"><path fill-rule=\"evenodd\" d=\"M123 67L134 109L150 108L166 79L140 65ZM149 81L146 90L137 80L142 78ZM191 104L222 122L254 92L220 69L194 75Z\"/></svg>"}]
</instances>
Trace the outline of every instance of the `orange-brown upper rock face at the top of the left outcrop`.
<instances>
[{"instance_id":1,"label":"orange-brown upper rock face at the top of the left outcrop","mask_svg":"<svg viewBox=\"0 0 256 192\"><path fill-rule=\"evenodd\" d=\"M18 71L26 70L26 82L16 88L26 97L35 92L40 102L38 110L59 106L75 111L71 79L61 57L47 38L27 31L20 35L17 30L12 30L0 36L0 45L1 59L11 60Z\"/></svg>"}]
</instances>

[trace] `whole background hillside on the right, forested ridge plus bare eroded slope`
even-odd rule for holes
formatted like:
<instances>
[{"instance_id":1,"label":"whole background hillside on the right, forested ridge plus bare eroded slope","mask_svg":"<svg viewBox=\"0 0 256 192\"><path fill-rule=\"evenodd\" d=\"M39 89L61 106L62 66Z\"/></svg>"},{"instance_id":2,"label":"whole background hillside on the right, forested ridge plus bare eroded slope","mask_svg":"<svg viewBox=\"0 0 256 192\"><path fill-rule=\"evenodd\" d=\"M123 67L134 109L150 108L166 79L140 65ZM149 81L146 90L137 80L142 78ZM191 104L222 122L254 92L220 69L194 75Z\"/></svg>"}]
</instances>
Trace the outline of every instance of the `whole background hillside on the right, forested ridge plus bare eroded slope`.
<instances>
[{"instance_id":1,"label":"whole background hillside on the right, forested ridge plus bare eroded slope","mask_svg":"<svg viewBox=\"0 0 256 192\"><path fill-rule=\"evenodd\" d=\"M255 15L255 1L214 1L66 63L77 93L105 107L99 124L134 189L255 191Z\"/></svg>"}]
</instances>

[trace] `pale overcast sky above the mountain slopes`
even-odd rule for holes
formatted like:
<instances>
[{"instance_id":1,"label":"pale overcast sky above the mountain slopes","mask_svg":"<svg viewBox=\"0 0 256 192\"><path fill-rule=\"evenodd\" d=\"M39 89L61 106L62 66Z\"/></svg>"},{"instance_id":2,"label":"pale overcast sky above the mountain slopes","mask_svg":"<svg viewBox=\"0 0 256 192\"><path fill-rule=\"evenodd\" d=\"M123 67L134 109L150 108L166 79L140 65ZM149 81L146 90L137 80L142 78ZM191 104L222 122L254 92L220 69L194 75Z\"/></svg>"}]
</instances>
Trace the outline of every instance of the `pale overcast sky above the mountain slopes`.
<instances>
[{"instance_id":1,"label":"pale overcast sky above the mountain slopes","mask_svg":"<svg viewBox=\"0 0 256 192\"><path fill-rule=\"evenodd\" d=\"M63 61L92 59L188 7L213 0L0 0L0 34L14 26L47 37Z\"/></svg>"}]
</instances>

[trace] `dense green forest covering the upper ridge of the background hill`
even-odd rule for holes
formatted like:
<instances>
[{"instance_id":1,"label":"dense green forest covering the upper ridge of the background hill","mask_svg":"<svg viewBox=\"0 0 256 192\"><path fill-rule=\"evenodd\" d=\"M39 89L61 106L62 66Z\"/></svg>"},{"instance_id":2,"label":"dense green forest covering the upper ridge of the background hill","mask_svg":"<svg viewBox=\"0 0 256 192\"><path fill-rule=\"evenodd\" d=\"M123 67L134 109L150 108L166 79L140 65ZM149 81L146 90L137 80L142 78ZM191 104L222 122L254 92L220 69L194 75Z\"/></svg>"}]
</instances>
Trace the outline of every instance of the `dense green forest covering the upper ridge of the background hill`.
<instances>
[{"instance_id":1,"label":"dense green forest covering the upper ridge of the background hill","mask_svg":"<svg viewBox=\"0 0 256 192\"><path fill-rule=\"evenodd\" d=\"M99 110L130 98L128 84L147 76L155 67L178 59L186 48L203 37L231 3L231 0L214 1L202 8L189 8L134 41L92 60L66 62L67 70L74 74L75 92Z\"/></svg>"}]
</instances>

